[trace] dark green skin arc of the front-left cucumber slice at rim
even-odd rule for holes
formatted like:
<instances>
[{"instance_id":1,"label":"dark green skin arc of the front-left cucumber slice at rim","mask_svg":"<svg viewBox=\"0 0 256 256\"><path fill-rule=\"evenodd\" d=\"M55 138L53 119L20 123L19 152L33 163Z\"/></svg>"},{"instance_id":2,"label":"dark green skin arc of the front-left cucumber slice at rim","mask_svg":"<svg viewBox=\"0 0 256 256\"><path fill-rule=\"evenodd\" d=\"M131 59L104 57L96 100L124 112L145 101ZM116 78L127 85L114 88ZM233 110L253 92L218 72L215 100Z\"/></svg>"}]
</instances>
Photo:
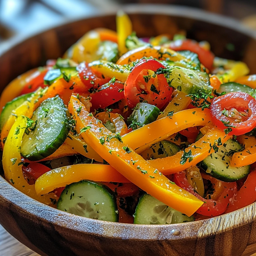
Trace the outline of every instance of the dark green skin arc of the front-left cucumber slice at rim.
<instances>
[{"instance_id":1,"label":"dark green skin arc of the front-left cucumber slice at rim","mask_svg":"<svg viewBox=\"0 0 256 256\"><path fill-rule=\"evenodd\" d=\"M60 195L60 198L59 198L59 200L57 202L57 209L60 210L61 203L62 203L62 200L63 200L62 198L68 195L68 191L70 190L70 188L72 190L73 186L79 186L80 184L83 184L83 183L85 183L85 184L91 183L92 185L94 185L95 188L102 187L104 190L106 190L106 192L108 192L109 196L111 196L113 202L115 203L115 205L114 205L115 208L113 209L113 211L115 213L117 212L116 215L115 215L116 218L113 221L114 222L118 222L119 215L118 215L118 207L117 207L117 204L116 204L116 196L115 196L115 194L113 193L113 191L108 186L106 186L104 184L101 184L99 182L92 181L92 180L80 180L79 182L74 182L74 183L71 183L71 184L67 185L65 187L65 189L62 191L62 193Z\"/></svg>"}]
</instances>

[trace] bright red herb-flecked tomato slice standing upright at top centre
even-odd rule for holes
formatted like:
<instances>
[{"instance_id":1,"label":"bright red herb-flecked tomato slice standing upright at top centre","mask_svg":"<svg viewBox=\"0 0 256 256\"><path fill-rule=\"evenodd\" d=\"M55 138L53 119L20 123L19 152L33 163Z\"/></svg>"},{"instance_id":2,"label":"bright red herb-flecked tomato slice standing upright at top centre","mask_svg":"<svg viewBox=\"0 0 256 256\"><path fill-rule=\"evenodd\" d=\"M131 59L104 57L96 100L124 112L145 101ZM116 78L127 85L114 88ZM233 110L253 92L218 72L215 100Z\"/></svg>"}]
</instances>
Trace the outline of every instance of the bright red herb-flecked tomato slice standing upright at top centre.
<instances>
[{"instance_id":1,"label":"bright red herb-flecked tomato slice standing upright at top centre","mask_svg":"<svg viewBox=\"0 0 256 256\"><path fill-rule=\"evenodd\" d=\"M170 101L173 89L169 87L163 74L155 77L148 75L150 73L146 76L141 74L144 70L150 70L154 74L159 68L165 67L154 59L143 59L134 66L124 84L124 97L131 108L139 102L147 101L161 109Z\"/></svg>"}]
</instances>

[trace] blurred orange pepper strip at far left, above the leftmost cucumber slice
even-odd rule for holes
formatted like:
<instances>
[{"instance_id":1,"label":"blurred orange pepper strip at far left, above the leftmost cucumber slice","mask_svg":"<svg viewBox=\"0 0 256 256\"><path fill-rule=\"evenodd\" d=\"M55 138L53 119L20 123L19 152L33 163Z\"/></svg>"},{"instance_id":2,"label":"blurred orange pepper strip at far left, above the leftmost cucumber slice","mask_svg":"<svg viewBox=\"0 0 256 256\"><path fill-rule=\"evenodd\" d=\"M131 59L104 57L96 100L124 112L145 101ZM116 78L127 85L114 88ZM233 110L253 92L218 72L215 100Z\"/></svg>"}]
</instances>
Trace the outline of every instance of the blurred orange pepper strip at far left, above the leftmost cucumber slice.
<instances>
[{"instance_id":1,"label":"blurred orange pepper strip at far left, above the leftmost cucumber slice","mask_svg":"<svg viewBox=\"0 0 256 256\"><path fill-rule=\"evenodd\" d=\"M8 101L20 95L25 84L29 83L33 78L37 77L41 72L38 68L31 69L26 73L18 76L10 82L3 90L0 98L0 113Z\"/></svg>"}]
</instances>

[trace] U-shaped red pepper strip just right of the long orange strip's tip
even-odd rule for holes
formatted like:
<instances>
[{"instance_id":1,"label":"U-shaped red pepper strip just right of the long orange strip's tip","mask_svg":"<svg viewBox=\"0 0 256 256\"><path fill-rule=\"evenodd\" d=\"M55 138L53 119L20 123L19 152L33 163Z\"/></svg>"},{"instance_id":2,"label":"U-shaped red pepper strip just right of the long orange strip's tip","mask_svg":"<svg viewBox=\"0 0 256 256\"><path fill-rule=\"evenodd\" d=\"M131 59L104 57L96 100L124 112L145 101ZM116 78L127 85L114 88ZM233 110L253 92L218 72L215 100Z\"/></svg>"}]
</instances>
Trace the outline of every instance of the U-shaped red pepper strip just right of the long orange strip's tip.
<instances>
[{"instance_id":1,"label":"U-shaped red pepper strip just right of the long orange strip's tip","mask_svg":"<svg viewBox=\"0 0 256 256\"><path fill-rule=\"evenodd\" d=\"M205 216L214 217L225 212L237 189L236 182L223 182L224 189L218 200L205 199L194 191L194 188L188 183L184 171L175 173L173 177L176 185L190 192L204 202L204 204L196 212ZM211 178L213 177L209 176L209 180L211 180Z\"/></svg>"}]
</instances>

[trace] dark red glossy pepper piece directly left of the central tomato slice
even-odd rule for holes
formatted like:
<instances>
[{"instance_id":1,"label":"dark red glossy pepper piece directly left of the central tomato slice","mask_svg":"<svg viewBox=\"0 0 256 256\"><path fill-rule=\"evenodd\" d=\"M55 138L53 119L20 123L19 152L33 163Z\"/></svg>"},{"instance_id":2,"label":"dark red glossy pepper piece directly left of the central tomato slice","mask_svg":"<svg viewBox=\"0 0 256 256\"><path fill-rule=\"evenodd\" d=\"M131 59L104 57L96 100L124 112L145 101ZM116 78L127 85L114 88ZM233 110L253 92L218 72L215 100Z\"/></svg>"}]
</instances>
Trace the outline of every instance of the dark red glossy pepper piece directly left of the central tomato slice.
<instances>
[{"instance_id":1,"label":"dark red glossy pepper piece directly left of the central tomato slice","mask_svg":"<svg viewBox=\"0 0 256 256\"><path fill-rule=\"evenodd\" d=\"M124 99L124 84L115 81L103 84L95 93L90 94L92 110L105 108Z\"/></svg>"}]
</instances>

